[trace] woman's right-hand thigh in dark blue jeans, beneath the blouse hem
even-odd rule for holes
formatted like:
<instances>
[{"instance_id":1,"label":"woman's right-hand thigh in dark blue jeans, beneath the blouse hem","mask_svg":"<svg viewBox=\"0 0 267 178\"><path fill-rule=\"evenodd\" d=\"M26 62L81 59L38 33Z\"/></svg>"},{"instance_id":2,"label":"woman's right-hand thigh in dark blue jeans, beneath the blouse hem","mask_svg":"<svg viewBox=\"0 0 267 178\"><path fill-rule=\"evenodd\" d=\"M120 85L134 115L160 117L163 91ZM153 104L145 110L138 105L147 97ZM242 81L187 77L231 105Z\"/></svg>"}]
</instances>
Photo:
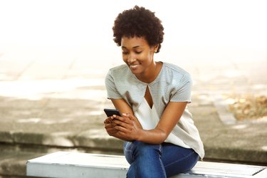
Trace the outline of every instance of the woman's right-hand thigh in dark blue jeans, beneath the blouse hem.
<instances>
[{"instance_id":1,"label":"woman's right-hand thigh in dark blue jeans, beneath the blouse hem","mask_svg":"<svg viewBox=\"0 0 267 178\"><path fill-rule=\"evenodd\" d=\"M199 155L192 149L162 143L162 162L167 177L192 169L198 160Z\"/></svg>"}]
</instances>

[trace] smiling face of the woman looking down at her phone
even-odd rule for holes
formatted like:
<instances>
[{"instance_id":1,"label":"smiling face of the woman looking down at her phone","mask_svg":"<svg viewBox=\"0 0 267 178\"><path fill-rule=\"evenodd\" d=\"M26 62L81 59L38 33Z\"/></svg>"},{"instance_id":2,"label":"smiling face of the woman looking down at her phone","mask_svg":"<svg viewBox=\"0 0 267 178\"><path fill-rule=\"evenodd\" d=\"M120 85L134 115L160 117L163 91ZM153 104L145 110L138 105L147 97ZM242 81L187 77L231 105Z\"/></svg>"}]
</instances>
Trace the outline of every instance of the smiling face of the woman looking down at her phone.
<instances>
[{"instance_id":1,"label":"smiling face of the woman looking down at her phone","mask_svg":"<svg viewBox=\"0 0 267 178\"><path fill-rule=\"evenodd\" d=\"M155 68L153 56L155 48L150 47L145 38L122 36L122 59L135 75L146 75Z\"/></svg>"}]
</instances>

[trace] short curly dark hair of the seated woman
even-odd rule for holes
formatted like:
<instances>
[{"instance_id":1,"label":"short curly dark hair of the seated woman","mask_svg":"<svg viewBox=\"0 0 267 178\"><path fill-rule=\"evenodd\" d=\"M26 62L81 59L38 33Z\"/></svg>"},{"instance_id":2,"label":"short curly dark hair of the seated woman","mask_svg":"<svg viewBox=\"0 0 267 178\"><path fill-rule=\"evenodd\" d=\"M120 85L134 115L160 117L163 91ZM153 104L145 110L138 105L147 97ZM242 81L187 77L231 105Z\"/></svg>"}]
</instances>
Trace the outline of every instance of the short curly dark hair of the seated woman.
<instances>
[{"instance_id":1,"label":"short curly dark hair of the seated woman","mask_svg":"<svg viewBox=\"0 0 267 178\"><path fill-rule=\"evenodd\" d=\"M122 36L127 37L144 37L147 43L152 46L157 46L157 52L161 47L164 36L164 28L155 12L152 12L144 7L135 6L132 9L125 10L120 13L114 21L113 40L117 46L121 46Z\"/></svg>"}]
</instances>

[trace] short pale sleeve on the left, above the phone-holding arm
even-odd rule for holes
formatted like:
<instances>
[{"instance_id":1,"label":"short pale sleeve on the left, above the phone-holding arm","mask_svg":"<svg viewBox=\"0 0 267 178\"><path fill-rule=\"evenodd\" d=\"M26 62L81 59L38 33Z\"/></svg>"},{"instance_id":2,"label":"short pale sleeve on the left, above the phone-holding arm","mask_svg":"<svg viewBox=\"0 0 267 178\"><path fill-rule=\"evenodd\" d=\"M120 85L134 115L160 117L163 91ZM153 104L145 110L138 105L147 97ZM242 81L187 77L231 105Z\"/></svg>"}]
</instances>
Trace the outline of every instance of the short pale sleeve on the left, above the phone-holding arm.
<instances>
[{"instance_id":1,"label":"short pale sleeve on the left, above the phone-holding arm","mask_svg":"<svg viewBox=\"0 0 267 178\"><path fill-rule=\"evenodd\" d=\"M105 77L105 88L108 93L108 99L121 99L122 96L120 93L118 93L116 85L115 85L115 79L112 76L112 70L108 71L108 74Z\"/></svg>"}]
</instances>

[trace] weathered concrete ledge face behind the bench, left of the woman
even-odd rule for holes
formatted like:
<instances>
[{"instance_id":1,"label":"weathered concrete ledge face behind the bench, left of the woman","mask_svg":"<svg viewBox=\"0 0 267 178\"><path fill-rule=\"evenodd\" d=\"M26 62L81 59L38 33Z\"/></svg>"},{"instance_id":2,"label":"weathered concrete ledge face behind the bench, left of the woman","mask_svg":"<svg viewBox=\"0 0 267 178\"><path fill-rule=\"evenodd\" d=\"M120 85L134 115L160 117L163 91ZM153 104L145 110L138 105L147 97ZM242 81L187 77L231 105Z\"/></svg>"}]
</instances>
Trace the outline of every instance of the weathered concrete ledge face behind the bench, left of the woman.
<instances>
[{"instance_id":1,"label":"weathered concrete ledge face behind the bench, left of the woman","mask_svg":"<svg viewBox=\"0 0 267 178\"><path fill-rule=\"evenodd\" d=\"M105 130L88 130L81 133L62 132L2 132L0 142L43 145L53 147L92 147L95 149L122 150L123 141L110 137Z\"/></svg>"}]
</instances>

